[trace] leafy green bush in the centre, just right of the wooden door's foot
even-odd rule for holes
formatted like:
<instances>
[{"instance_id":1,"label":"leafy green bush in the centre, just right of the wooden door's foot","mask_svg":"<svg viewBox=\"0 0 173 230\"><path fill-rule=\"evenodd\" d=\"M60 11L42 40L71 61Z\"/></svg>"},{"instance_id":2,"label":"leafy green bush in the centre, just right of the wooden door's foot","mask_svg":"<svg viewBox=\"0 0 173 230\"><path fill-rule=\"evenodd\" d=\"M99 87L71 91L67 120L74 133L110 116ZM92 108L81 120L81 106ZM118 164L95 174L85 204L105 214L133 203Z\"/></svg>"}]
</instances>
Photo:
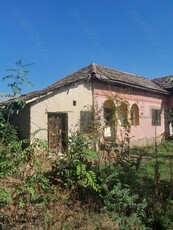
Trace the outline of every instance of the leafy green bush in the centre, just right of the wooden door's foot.
<instances>
[{"instance_id":1,"label":"leafy green bush in the centre, just right of the wooden door's foot","mask_svg":"<svg viewBox=\"0 0 173 230\"><path fill-rule=\"evenodd\" d=\"M96 157L98 157L97 153L89 149L89 139L80 133L72 135L69 153L59 159L53 168L53 183L57 181L61 186L72 190L89 187L99 192L97 175L90 162Z\"/></svg>"}]
</instances>

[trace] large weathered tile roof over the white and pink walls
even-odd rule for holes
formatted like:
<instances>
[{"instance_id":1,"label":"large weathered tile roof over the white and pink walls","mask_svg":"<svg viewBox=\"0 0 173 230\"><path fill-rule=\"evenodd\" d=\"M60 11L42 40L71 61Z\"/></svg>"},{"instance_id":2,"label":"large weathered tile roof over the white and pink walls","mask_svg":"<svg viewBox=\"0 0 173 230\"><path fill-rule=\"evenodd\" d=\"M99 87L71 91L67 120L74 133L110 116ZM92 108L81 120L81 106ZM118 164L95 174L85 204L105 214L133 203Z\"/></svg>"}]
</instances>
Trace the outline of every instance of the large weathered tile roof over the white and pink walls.
<instances>
[{"instance_id":1,"label":"large weathered tile roof over the white and pink walls","mask_svg":"<svg viewBox=\"0 0 173 230\"><path fill-rule=\"evenodd\" d=\"M100 80L102 82L115 83L121 85L122 87L133 87L162 94L169 94L166 90L148 78L125 73L97 64L91 64L55 82L43 90L22 95L21 98L27 102L34 101L37 98L44 97L54 92L58 88L78 82L80 80L89 80L91 78Z\"/></svg>"}]
</instances>

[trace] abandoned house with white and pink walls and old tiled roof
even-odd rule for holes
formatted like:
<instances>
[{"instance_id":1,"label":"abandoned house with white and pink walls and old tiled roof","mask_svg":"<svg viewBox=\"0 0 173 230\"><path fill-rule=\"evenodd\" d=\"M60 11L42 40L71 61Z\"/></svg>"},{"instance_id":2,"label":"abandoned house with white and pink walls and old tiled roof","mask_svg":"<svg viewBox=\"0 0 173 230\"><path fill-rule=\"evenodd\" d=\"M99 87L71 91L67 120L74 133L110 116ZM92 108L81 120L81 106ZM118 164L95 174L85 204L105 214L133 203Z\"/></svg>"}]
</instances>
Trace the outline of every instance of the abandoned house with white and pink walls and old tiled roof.
<instances>
[{"instance_id":1,"label":"abandoned house with white and pink walls and old tiled roof","mask_svg":"<svg viewBox=\"0 0 173 230\"><path fill-rule=\"evenodd\" d=\"M43 90L21 96L26 106L15 120L21 138L40 129L37 138L62 150L67 148L70 133L87 132L88 108L97 106L103 140L121 141L128 120L131 143L148 144L156 136L172 134L168 113L173 108L172 89L171 76L151 80L91 64Z\"/></svg>"}]
</instances>

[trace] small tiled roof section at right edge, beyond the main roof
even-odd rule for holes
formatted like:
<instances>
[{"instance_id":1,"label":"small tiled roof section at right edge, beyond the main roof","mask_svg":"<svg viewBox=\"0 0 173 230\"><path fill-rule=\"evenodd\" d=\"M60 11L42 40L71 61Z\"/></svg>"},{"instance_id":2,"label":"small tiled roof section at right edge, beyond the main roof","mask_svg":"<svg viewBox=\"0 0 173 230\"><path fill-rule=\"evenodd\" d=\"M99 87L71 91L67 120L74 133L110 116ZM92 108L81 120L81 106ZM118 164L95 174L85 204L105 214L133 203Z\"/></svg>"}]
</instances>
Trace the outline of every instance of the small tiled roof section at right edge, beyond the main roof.
<instances>
[{"instance_id":1,"label":"small tiled roof section at right edge, beyond the main roof","mask_svg":"<svg viewBox=\"0 0 173 230\"><path fill-rule=\"evenodd\" d=\"M153 79L153 82L162 89L171 90L173 88L173 75L155 78Z\"/></svg>"}]
</instances>

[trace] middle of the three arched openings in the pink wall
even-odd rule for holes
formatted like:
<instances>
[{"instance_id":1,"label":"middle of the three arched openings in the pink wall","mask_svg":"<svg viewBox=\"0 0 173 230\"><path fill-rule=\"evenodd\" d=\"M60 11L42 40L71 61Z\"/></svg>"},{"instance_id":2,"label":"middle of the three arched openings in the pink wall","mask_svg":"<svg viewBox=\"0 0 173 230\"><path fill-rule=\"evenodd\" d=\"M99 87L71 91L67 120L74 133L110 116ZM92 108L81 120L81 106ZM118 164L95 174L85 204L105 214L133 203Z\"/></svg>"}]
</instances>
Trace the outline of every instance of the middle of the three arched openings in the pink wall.
<instances>
[{"instance_id":1,"label":"middle of the three arched openings in the pink wall","mask_svg":"<svg viewBox=\"0 0 173 230\"><path fill-rule=\"evenodd\" d=\"M124 102L118 108L118 123L122 126L128 125L128 107Z\"/></svg>"}]
</instances>

